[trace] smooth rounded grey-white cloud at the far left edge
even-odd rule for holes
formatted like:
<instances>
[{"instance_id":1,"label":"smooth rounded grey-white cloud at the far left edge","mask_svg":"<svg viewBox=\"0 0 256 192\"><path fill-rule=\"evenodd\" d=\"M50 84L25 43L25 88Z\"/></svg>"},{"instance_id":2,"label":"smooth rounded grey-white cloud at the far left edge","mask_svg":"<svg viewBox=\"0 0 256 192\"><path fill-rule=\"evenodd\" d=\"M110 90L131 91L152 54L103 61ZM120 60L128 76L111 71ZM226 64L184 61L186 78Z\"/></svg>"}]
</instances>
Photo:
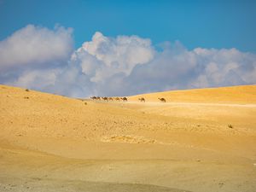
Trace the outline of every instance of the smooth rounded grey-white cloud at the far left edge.
<instances>
[{"instance_id":1,"label":"smooth rounded grey-white cloud at the far left edge","mask_svg":"<svg viewBox=\"0 0 256 192\"><path fill-rule=\"evenodd\" d=\"M67 61L73 51L72 29L28 25L0 42L0 70Z\"/></svg>"}]
</instances>

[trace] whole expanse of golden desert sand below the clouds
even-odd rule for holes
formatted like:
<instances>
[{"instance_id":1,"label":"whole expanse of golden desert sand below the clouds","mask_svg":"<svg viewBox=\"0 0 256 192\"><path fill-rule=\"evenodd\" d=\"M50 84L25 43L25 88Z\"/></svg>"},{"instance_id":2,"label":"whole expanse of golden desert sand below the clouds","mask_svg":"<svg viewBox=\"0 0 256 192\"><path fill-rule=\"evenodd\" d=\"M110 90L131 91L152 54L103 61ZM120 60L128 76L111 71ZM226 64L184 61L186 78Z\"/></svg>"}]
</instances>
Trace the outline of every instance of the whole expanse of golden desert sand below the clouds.
<instances>
[{"instance_id":1,"label":"whole expanse of golden desert sand below the clouds","mask_svg":"<svg viewBox=\"0 0 256 192\"><path fill-rule=\"evenodd\" d=\"M256 191L256 85L128 102L0 85L0 119L1 192Z\"/></svg>"}]
</instances>

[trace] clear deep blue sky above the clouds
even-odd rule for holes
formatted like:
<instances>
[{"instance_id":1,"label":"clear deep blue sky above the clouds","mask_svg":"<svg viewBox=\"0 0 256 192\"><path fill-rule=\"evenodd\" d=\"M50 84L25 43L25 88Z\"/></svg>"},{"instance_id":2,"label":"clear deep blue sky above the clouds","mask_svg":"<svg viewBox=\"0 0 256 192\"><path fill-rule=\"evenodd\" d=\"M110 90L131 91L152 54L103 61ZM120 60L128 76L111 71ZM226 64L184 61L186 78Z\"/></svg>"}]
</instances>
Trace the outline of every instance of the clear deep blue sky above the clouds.
<instances>
[{"instance_id":1,"label":"clear deep blue sky above the clouds","mask_svg":"<svg viewBox=\"0 0 256 192\"><path fill-rule=\"evenodd\" d=\"M100 31L153 44L256 51L256 1L0 0L0 40L27 24L73 27L75 46Z\"/></svg>"}]
</instances>

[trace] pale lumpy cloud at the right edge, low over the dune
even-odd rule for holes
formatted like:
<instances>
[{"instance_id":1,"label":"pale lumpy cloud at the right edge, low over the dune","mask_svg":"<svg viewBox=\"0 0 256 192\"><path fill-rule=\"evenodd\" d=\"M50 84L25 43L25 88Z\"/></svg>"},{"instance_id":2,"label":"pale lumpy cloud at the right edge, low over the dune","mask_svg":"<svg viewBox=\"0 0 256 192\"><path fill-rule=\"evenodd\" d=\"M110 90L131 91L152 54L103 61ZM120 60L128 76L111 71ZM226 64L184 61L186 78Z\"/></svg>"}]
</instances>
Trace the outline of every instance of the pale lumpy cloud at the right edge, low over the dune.
<instances>
[{"instance_id":1,"label":"pale lumpy cloud at the right edge, low over the dune","mask_svg":"<svg viewBox=\"0 0 256 192\"><path fill-rule=\"evenodd\" d=\"M201 87L199 84L203 82L207 86L256 83L256 55L242 53L237 49L198 48L194 52L198 57L198 65L201 64L202 68L200 75L190 86Z\"/></svg>"}]
</instances>

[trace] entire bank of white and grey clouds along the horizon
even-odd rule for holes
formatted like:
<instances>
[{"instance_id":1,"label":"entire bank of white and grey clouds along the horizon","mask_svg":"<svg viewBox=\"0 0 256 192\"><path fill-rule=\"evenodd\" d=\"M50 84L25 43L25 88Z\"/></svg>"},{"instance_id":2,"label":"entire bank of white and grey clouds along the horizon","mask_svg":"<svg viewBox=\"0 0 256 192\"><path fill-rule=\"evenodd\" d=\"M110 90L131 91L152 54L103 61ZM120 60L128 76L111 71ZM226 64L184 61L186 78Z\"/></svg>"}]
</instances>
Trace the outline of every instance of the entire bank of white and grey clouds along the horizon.
<instances>
[{"instance_id":1,"label":"entire bank of white and grey clouds along the horizon","mask_svg":"<svg viewBox=\"0 0 256 192\"><path fill-rule=\"evenodd\" d=\"M74 50L72 29L29 25L0 42L0 83L79 97L256 84L256 55L101 32Z\"/></svg>"}]
</instances>

